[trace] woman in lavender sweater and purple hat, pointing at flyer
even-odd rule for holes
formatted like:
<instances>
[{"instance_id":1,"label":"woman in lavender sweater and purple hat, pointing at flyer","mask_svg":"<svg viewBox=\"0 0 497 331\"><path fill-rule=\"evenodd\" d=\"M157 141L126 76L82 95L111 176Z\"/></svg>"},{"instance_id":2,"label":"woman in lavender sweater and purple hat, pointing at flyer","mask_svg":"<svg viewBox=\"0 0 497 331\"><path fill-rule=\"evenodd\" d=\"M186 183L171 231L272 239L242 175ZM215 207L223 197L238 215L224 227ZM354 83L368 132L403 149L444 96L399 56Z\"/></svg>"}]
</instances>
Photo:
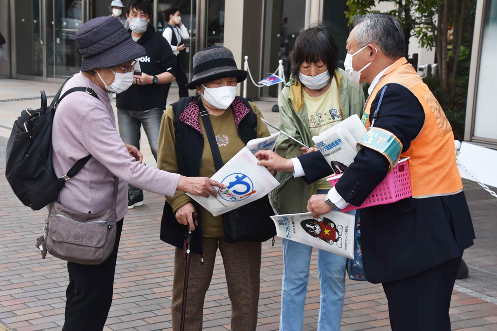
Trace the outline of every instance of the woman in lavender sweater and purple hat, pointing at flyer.
<instances>
[{"instance_id":1,"label":"woman in lavender sweater and purple hat, pointing at flyer","mask_svg":"<svg viewBox=\"0 0 497 331\"><path fill-rule=\"evenodd\" d=\"M67 208L95 213L115 207L117 235L110 257L99 265L68 262L66 316L63 331L101 331L112 303L117 250L128 210L128 183L147 191L173 196L188 192L216 195L212 187L225 187L208 178L188 178L142 164L136 147L125 144L116 131L108 92L120 93L133 82L134 59L145 55L142 46L115 17L98 17L76 33L83 57L81 72L65 84L62 93L77 86L87 92L68 94L59 104L53 123L55 174L64 176L80 160L91 155L81 171L60 192ZM98 98L93 97L96 93ZM114 192L115 178L119 181Z\"/></svg>"}]
</instances>

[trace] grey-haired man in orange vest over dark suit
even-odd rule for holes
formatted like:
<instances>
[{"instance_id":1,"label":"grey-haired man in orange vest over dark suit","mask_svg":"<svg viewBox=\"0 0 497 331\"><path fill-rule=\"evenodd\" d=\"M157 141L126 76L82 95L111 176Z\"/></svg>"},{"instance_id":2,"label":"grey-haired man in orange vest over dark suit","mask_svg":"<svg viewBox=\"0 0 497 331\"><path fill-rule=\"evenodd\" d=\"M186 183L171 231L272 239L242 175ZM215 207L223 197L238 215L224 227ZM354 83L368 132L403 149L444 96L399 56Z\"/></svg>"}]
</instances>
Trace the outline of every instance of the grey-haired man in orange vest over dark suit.
<instances>
[{"instance_id":1,"label":"grey-haired man in orange vest over dark suit","mask_svg":"<svg viewBox=\"0 0 497 331\"><path fill-rule=\"evenodd\" d=\"M410 157L413 197L361 209L366 278L382 283L393 331L450 331L449 306L464 249L475 233L457 170L454 135L443 110L406 58L394 16L354 18L344 62L348 77L370 83L354 162L327 195L308 202L314 216L361 205L401 157ZM319 151L259 164L308 183L331 173Z\"/></svg>"}]
</instances>

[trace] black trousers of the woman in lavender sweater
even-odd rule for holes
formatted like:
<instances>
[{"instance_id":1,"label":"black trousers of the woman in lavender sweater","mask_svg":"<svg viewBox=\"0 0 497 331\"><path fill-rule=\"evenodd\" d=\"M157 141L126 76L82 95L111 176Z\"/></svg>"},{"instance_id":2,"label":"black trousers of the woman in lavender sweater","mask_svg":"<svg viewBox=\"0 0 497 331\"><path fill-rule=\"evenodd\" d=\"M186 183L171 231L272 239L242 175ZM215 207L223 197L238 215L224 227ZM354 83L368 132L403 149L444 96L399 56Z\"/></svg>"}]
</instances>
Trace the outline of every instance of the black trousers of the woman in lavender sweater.
<instances>
[{"instance_id":1,"label":"black trousers of the woman in lavender sweater","mask_svg":"<svg viewBox=\"0 0 497 331\"><path fill-rule=\"evenodd\" d=\"M62 331L102 331L114 291L117 250L123 229L117 222L116 242L109 258L100 265L67 263L66 318Z\"/></svg>"}]
</instances>

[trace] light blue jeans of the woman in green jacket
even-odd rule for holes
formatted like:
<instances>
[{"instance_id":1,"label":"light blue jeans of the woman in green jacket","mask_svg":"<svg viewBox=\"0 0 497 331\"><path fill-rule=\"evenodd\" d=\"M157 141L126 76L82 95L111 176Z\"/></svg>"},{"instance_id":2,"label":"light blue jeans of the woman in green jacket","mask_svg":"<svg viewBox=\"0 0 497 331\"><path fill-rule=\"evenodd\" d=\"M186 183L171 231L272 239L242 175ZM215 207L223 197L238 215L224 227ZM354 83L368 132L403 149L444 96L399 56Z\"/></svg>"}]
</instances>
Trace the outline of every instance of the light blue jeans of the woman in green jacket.
<instances>
[{"instance_id":1,"label":"light blue jeans of the woman in green jacket","mask_svg":"<svg viewBox=\"0 0 497 331\"><path fill-rule=\"evenodd\" d=\"M318 191L318 194L326 193L328 192L325 190ZM355 214L355 210L349 213ZM284 269L281 284L280 330L302 331L313 248L284 238L281 241ZM340 331L346 264L347 258L318 250L321 290L318 331Z\"/></svg>"}]
</instances>

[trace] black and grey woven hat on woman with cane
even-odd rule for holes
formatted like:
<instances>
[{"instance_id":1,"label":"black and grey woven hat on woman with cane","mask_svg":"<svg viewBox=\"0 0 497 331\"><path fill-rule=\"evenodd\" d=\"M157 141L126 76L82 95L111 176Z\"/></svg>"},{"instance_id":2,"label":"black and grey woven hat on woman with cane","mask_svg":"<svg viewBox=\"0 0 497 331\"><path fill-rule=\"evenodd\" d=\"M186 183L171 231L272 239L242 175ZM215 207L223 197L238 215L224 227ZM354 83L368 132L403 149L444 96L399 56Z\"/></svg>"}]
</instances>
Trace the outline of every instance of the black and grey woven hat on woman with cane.
<instances>
[{"instance_id":1,"label":"black and grey woven hat on woman with cane","mask_svg":"<svg viewBox=\"0 0 497 331\"><path fill-rule=\"evenodd\" d=\"M237 77L241 82L247 79L247 71L237 67L233 53L226 47L207 47L193 56L193 78L185 86L192 90L198 85L226 77Z\"/></svg>"}]
</instances>

